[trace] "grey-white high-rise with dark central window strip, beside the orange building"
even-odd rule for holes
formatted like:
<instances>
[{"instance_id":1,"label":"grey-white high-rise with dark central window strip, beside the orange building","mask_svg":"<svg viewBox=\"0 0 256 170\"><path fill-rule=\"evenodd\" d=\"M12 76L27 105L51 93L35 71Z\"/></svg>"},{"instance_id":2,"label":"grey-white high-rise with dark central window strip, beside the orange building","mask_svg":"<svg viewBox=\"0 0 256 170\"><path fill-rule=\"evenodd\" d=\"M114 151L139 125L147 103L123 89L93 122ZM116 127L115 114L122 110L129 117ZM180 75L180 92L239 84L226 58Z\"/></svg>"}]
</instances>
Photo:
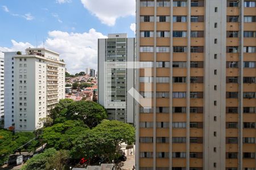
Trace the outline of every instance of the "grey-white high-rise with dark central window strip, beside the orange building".
<instances>
[{"instance_id":1,"label":"grey-white high-rise with dark central window strip, beside the orange building","mask_svg":"<svg viewBox=\"0 0 256 170\"><path fill-rule=\"evenodd\" d=\"M126 33L109 34L98 40L98 103L110 120L134 124L134 100L128 93L134 87L135 39Z\"/></svg>"}]
</instances>

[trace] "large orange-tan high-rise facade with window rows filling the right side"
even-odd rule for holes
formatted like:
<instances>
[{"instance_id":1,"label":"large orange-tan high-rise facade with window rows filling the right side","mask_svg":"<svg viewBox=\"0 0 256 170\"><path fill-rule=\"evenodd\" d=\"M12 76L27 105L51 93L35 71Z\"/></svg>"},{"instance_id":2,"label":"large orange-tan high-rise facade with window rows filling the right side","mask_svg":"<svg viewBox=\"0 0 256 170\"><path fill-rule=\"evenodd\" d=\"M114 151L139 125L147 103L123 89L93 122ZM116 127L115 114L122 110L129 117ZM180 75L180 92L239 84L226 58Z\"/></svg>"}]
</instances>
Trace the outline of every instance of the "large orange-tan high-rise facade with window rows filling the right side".
<instances>
[{"instance_id":1,"label":"large orange-tan high-rise facade with window rows filling the right side","mask_svg":"<svg viewBox=\"0 0 256 170\"><path fill-rule=\"evenodd\" d=\"M137 169L255 169L255 3L137 0Z\"/></svg>"}]
</instances>

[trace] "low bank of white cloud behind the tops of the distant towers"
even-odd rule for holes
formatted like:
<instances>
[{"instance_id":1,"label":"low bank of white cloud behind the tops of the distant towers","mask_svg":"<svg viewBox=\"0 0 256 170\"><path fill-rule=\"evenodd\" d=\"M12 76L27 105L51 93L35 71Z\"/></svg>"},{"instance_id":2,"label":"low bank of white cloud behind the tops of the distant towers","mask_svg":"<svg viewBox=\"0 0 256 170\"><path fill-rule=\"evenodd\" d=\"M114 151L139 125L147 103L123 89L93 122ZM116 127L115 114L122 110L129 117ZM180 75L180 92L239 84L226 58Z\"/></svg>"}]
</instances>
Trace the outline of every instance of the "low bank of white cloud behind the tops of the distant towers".
<instances>
[{"instance_id":1,"label":"low bank of white cloud behind the tops of the distant towers","mask_svg":"<svg viewBox=\"0 0 256 170\"><path fill-rule=\"evenodd\" d=\"M61 31L48 32L48 38L44 43L47 49L60 53L60 58L67 63L67 70L72 74L84 71L86 67L97 69L97 46L98 39L106 36L90 29L84 33L68 33ZM22 51L28 47L34 47L28 42L16 42L11 40L11 48L0 47L3 52ZM39 46L43 46L42 44Z\"/></svg>"}]
</instances>

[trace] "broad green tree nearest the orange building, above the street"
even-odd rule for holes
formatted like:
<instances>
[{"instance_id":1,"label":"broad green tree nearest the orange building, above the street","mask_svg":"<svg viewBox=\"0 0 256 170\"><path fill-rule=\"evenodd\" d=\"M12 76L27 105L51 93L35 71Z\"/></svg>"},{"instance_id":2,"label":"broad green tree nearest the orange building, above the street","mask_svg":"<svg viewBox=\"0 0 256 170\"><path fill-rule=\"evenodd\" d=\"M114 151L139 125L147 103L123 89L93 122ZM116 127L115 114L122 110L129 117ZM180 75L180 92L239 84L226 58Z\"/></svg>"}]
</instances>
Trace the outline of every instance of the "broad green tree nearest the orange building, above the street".
<instances>
[{"instance_id":1,"label":"broad green tree nearest the orange building, above the street","mask_svg":"<svg viewBox=\"0 0 256 170\"><path fill-rule=\"evenodd\" d=\"M112 163L120 156L120 144L132 145L135 142L135 129L120 121L104 120L86 131L74 142L71 155L75 159L103 158L101 163Z\"/></svg>"}]
</instances>

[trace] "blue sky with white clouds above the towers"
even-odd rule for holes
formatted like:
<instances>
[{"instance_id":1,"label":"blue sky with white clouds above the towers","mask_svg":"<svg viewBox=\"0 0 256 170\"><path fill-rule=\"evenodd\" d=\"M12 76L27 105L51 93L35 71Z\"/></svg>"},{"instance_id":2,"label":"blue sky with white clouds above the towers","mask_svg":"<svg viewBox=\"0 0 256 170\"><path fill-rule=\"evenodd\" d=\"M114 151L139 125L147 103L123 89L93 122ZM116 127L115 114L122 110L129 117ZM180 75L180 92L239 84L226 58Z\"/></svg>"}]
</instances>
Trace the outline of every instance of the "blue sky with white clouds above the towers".
<instances>
[{"instance_id":1,"label":"blue sky with white clouds above the towers","mask_svg":"<svg viewBox=\"0 0 256 170\"><path fill-rule=\"evenodd\" d=\"M97 68L98 38L135 36L135 0L0 0L0 7L2 52L44 44L70 73Z\"/></svg>"}]
</instances>

